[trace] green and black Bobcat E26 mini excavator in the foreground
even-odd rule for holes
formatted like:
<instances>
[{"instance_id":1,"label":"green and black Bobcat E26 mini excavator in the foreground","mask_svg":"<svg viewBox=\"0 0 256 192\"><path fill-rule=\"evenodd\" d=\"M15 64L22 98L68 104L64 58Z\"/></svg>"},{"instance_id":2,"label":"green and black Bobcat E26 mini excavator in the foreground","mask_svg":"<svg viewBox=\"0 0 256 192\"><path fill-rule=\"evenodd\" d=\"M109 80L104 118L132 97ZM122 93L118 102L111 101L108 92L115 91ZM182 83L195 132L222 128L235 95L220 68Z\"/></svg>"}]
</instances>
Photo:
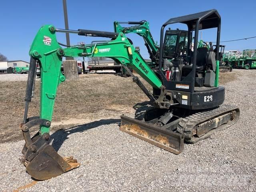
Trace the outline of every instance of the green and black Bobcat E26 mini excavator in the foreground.
<instances>
[{"instance_id":1,"label":"green and black Bobcat E26 mini excavator in the foreground","mask_svg":"<svg viewBox=\"0 0 256 192\"><path fill-rule=\"evenodd\" d=\"M146 21L127 22L136 26L123 28L114 22L115 32L63 30L52 25L40 28L30 48L30 69L25 96L25 114L20 124L25 145L21 160L27 172L38 180L46 180L78 167L73 157L62 158L50 143L50 125L58 85L65 81L61 73L62 57L108 57L122 64L133 81L148 96L151 105L142 106L135 118L121 116L120 130L164 148L175 154L184 149L184 141L195 143L214 132L235 124L239 118L236 106L222 105L225 89L218 86L220 15L209 10L171 18L162 25L160 46L156 46ZM186 24L188 30L165 30L169 24ZM210 46L192 48L198 42L198 30L217 28L216 53ZM81 36L110 38L91 44L62 48L56 32ZM164 35L165 32L165 35ZM136 33L145 40L152 62L145 62L127 33ZM41 72L40 117L27 118L34 87L36 63ZM130 72L136 71L153 88L150 92ZM32 138L30 128L40 126Z\"/></svg>"}]
</instances>

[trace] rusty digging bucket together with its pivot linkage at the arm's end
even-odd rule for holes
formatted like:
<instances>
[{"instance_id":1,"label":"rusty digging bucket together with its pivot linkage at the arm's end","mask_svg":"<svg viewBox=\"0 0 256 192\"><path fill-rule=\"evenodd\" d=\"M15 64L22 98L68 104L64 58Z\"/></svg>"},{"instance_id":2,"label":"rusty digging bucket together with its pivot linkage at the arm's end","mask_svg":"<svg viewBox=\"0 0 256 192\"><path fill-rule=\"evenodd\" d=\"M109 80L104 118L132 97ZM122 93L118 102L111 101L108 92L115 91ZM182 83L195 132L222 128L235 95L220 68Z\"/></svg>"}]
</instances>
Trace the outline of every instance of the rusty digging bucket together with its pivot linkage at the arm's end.
<instances>
[{"instance_id":1,"label":"rusty digging bucket together with its pivot linkage at the arm's end","mask_svg":"<svg viewBox=\"0 0 256 192\"><path fill-rule=\"evenodd\" d=\"M37 180L47 180L79 167L80 163L72 156L62 158L54 150L49 144L48 133L40 135L38 132L30 138L29 129L40 124L50 126L50 121L35 117L20 126L25 140L22 150L24 156L20 160L26 166L28 174Z\"/></svg>"}]
</instances>

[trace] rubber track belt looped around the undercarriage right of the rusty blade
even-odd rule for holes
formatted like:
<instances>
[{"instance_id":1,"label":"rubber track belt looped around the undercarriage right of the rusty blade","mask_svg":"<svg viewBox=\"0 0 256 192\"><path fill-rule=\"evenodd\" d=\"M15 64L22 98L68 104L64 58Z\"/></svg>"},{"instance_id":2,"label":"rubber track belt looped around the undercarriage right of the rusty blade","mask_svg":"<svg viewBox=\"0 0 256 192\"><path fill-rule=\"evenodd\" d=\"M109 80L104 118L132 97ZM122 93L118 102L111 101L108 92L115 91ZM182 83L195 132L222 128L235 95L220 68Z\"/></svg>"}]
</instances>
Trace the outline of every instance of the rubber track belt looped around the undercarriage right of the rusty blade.
<instances>
[{"instance_id":1,"label":"rubber track belt looped around the undercarriage right of the rusty blade","mask_svg":"<svg viewBox=\"0 0 256 192\"><path fill-rule=\"evenodd\" d=\"M212 118L215 118L216 116L220 116L227 112L231 112L233 110L236 110L236 112L237 112L236 118L234 120L229 121L226 124L222 124L221 126L219 126L216 129L210 130L209 132L207 132L206 134L204 134L201 137L193 137L192 136L192 130L196 125L206 122L207 120L210 120ZM223 130L229 126L232 126L233 124L235 124L238 121L239 115L240 115L240 111L236 106L230 106L230 105L225 104L225 105L219 106L218 108L213 108L211 110L198 112L198 113L192 114L186 118L183 118L180 121L180 123L178 124L177 130L179 130L179 132L181 130L183 130L186 142L196 143L200 140L203 140L203 139L211 136L214 132L217 132L217 131Z\"/></svg>"}]
</instances>

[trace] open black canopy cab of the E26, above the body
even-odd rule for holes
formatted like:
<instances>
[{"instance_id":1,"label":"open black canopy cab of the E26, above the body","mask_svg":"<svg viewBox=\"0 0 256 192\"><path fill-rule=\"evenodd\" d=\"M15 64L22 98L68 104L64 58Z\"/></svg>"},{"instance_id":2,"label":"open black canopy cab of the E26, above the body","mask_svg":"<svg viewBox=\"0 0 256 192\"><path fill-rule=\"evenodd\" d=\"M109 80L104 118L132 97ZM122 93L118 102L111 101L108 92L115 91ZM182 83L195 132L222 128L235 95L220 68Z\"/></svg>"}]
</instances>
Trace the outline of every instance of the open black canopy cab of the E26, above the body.
<instances>
[{"instance_id":1,"label":"open black canopy cab of the E26, above the body","mask_svg":"<svg viewBox=\"0 0 256 192\"><path fill-rule=\"evenodd\" d=\"M169 28L166 30L163 40L164 27L176 23L186 24L188 30L171 30ZM210 43L210 48L208 46L198 46L198 31L216 27L218 32L215 52L212 43ZM170 78L165 77L164 79L178 82L189 81L192 83L190 90L192 92L194 92L194 87L216 86L216 60L218 60L217 54L219 55L219 38L220 16L217 10L209 10L168 20L162 26L160 40L160 71L170 71ZM206 74L210 74L210 78L206 78Z\"/></svg>"}]
</instances>

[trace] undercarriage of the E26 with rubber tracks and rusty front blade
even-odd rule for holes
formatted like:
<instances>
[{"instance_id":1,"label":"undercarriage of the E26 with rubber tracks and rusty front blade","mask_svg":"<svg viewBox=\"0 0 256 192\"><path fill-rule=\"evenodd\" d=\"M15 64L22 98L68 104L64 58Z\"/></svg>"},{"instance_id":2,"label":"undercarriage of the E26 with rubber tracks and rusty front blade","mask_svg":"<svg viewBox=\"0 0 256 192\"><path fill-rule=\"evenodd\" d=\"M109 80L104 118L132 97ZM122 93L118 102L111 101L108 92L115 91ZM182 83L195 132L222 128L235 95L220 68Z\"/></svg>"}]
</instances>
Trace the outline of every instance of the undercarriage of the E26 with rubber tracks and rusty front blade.
<instances>
[{"instance_id":1,"label":"undercarriage of the E26 with rubber tracks and rusty front blade","mask_svg":"<svg viewBox=\"0 0 256 192\"><path fill-rule=\"evenodd\" d=\"M135 119L122 115L120 130L179 154L184 150L184 141L196 143L203 140L235 124L239 115L236 106L225 104L207 110L186 111L184 116L180 116L180 112L176 114L175 110L148 105L136 110Z\"/></svg>"}]
</instances>

